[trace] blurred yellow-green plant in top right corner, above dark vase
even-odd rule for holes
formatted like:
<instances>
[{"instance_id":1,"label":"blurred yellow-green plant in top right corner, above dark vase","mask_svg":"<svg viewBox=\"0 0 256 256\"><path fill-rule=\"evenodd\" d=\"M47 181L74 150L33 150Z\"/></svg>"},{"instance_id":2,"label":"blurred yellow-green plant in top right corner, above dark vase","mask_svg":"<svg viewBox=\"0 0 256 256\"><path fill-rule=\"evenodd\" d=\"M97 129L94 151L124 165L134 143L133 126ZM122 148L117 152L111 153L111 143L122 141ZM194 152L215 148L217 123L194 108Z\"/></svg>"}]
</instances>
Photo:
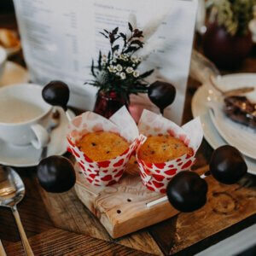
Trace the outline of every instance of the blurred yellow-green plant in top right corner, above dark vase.
<instances>
[{"instance_id":1,"label":"blurred yellow-green plant in top right corner, above dark vase","mask_svg":"<svg viewBox=\"0 0 256 256\"><path fill-rule=\"evenodd\" d=\"M217 0L213 2L219 26L224 26L231 36L245 35L253 19L255 0Z\"/></svg>"}]
</instances>

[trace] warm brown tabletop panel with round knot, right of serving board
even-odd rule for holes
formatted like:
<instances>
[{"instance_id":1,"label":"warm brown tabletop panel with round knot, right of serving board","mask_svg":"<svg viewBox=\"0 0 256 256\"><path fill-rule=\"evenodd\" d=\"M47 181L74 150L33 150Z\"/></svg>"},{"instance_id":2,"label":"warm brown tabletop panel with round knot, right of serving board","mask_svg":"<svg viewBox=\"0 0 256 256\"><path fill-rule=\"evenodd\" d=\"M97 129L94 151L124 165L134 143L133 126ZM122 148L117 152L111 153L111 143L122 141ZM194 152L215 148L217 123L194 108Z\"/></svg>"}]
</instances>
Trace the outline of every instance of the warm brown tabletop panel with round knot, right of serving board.
<instances>
[{"instance_id":1,"label":"warm brown tabletop panel with round knot, right of serving board","mask_svg":"<svg viewBox=\"0 0 256 256\"><path fill-rule=\"evenodd\" d=\"M180 213L170 253L177 253L256 214L256 187L224 185L207 177L208 200L205 207L192 213ZM191 225L193 223L193 225Z\"/></svg>"}]
</instances>

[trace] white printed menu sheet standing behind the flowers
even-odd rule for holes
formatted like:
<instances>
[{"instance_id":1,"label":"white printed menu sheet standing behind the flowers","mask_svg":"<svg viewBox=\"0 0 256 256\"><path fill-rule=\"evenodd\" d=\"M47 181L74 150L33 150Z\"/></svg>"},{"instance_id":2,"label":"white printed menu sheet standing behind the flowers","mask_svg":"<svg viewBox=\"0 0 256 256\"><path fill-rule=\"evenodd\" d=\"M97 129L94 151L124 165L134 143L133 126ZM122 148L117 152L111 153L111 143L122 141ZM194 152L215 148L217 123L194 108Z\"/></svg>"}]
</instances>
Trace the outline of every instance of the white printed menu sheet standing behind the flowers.
<instances>
[{"instance_id":1,"label":"white printed menu sheet standing behind the flowers","mask_svg":"<svg viewBox=\"0 0 256 256\"><path fill-rule=\"evenodd\" d=\"M96 88L84 85L91 79L90 63L99 49L108 50L102 29L127 30L128 20L142 29L146 59L143 70L154 68L148 81L175 85L177 96L166 117L181 123L195 30L197 1L185 0L14 0L24 57L38 84L65 81L74 107L92 109ZM151 104L147 96L132 98Z\"/></svg>"}]
</instances>

